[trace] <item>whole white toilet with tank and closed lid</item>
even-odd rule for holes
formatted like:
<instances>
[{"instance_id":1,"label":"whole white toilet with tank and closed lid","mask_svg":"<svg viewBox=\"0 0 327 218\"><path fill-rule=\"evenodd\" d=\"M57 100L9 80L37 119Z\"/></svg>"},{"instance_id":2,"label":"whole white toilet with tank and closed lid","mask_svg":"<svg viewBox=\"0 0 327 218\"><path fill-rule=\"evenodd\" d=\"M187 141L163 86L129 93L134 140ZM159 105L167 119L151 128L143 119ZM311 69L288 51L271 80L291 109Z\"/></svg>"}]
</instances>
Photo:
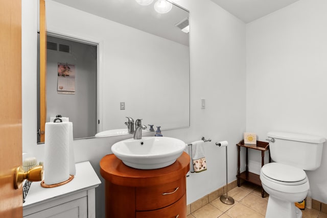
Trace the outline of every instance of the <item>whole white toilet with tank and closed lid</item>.
<instances>
[{"instance_id":1,"label":"whole white toilet with tank and closed lid","mask_svg":"<svg viewBox=\"0 0 327 218\"><path fill-rule=\"evenodd\" d=\"M325 138L288 132L268 132L272 163L261 168L262 187L269 194L266 218L300 218L294 202L307 197L309 180L304 170L320 166Z\"/></svg>"}]
</instances>

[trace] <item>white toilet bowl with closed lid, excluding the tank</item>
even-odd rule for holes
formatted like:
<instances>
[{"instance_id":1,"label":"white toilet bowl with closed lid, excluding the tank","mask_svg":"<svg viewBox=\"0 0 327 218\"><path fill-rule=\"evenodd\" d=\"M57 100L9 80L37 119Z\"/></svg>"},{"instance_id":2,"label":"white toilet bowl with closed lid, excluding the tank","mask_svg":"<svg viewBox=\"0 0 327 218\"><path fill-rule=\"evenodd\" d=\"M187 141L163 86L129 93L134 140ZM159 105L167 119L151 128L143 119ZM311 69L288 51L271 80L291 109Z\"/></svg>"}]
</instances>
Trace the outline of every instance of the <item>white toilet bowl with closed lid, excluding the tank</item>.
<instances>
[{"instance_id":1,"label":"white toilet bowl with closed lid, excluding the tank","mask_svg":"<svg viewBox=\"0 0 327 218\"><path fill-rule=\"evenodd\" d=\"M283 164L268 163L261 168L261 184L269 194L266 218L300 218L302 212L294 202L306 198L309 180L300 168Z\"/></svg>"}]
</instances>

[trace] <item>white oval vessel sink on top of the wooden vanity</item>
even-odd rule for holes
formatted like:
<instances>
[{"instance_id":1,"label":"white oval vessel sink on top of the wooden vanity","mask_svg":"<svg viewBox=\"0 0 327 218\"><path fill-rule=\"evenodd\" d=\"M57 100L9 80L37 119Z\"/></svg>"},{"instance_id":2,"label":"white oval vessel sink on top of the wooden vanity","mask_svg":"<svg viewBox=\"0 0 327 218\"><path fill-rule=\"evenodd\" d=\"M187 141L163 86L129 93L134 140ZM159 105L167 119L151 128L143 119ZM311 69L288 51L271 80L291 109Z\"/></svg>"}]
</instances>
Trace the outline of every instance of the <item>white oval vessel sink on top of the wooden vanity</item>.
<instances>
[{"instance_id":1,"label":"white oval vessel sink on top of the wooden vanity","mask_svg":"<svg viewBox=\"0 0 327 218\"><path fill-rule=\"evenodd\" d=\"M185 142L177 138L143 137L116 142L111 151L130 167L157 169L173 164L185 147Z\"/></svg>"}]
</instances>

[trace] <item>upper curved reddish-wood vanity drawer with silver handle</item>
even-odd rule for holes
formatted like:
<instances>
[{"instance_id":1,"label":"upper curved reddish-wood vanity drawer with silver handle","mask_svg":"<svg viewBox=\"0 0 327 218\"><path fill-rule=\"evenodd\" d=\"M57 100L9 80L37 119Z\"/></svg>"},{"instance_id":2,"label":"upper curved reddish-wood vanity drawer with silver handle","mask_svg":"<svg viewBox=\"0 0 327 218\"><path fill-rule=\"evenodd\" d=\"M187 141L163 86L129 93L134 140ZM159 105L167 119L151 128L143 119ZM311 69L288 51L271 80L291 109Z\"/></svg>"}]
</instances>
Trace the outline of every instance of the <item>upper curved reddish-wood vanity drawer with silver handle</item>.
<instances>
[{"instance_id":1,"label":"upper curved reddish-wood vanity drawer with silver handle","mask_svg":"<svg viewBox=\"0 0 327 218\"><path fill-rule=\"evenodd\" d=\"M186 177L164 185L136 187L136 210L155 210L167 207L180 199L185 191Z\"/></svg>"}]
</instances>

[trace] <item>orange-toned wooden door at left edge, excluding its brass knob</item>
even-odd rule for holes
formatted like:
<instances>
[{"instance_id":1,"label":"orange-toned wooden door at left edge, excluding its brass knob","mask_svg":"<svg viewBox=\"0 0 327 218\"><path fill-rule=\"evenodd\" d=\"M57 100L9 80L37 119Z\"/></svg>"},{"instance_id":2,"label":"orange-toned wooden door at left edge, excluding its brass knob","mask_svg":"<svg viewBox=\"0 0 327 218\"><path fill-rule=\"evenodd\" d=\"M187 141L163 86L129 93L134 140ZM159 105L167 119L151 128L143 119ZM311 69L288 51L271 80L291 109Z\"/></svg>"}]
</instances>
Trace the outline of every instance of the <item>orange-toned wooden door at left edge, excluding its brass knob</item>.
<instances>
[{"instance_id":1,"label":"orange-toned wooden door at left edge, excluding its brass knob","mask_svg":"<svg viewBox=\"0 0 327 218\"><path fill-rule=\"evenodd\" d=\"M22 189L14 189L21 165L21 0L0 7L0 217L22 217Z\"/></svg>"}]
</instances>

